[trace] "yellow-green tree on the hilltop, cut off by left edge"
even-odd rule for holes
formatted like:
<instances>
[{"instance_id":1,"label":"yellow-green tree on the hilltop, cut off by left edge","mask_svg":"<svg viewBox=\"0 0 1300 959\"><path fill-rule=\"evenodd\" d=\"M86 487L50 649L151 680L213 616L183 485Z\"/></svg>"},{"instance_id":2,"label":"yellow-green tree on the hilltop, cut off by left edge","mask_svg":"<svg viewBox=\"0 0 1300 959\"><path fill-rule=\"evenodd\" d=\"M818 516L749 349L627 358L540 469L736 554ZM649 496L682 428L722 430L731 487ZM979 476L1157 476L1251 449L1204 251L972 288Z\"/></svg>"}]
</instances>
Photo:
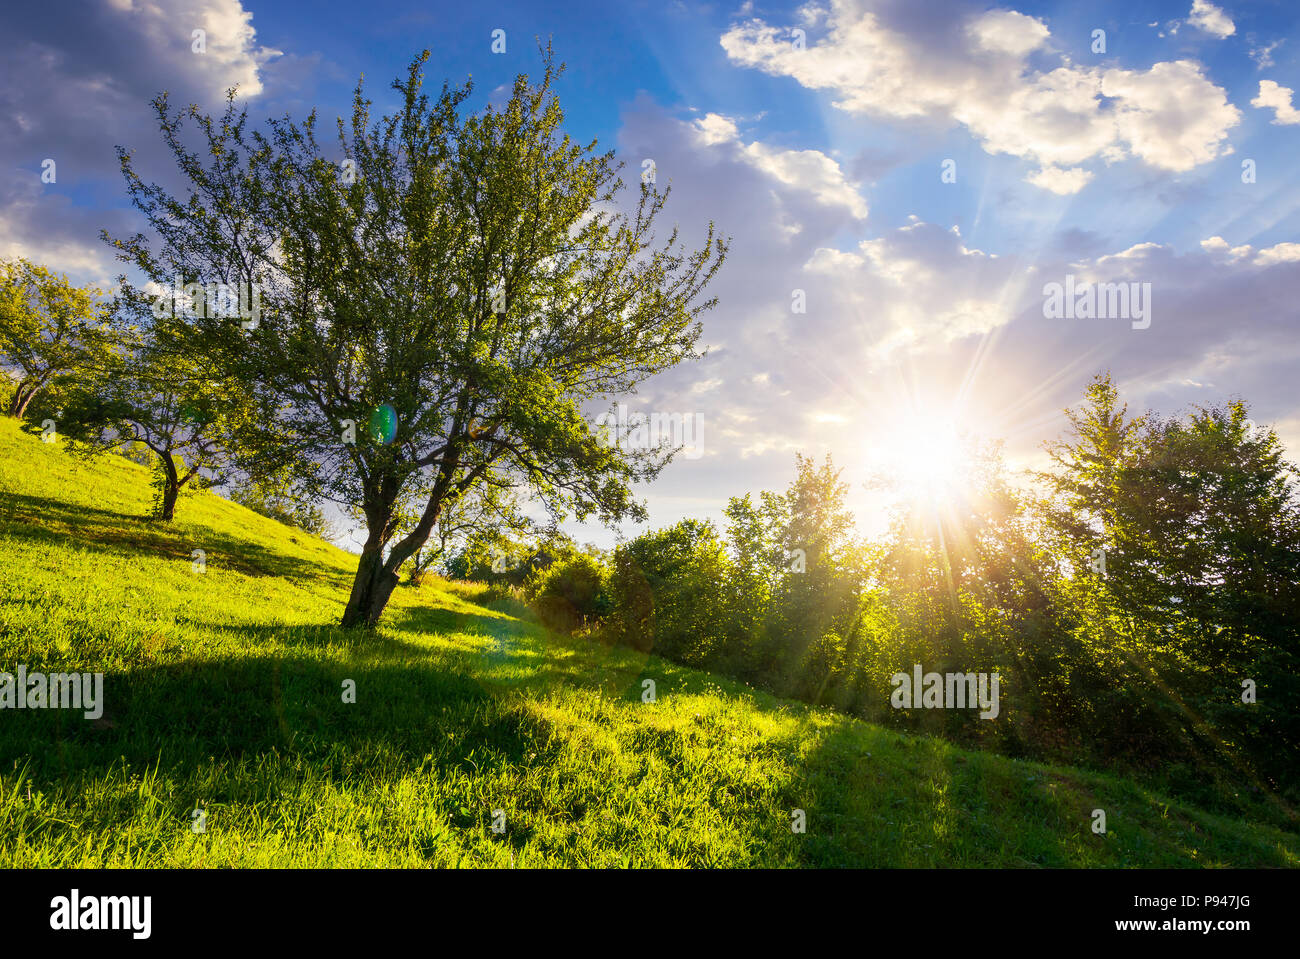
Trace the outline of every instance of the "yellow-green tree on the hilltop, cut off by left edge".
<instances>
[{"instance_id":1,"label":"yellow-green tree on the hilltop, cut off by left edge","mask_svg":"<svg viewBox=\"0 0 1300 959\"><path fill-rule=\"evenodd\" d=\"M113 329L103 296L30 260L0 262L0 363L17 376L9 416L22 417L42 391L92 376L108 360Z\"/></svg>"}]
</instances>

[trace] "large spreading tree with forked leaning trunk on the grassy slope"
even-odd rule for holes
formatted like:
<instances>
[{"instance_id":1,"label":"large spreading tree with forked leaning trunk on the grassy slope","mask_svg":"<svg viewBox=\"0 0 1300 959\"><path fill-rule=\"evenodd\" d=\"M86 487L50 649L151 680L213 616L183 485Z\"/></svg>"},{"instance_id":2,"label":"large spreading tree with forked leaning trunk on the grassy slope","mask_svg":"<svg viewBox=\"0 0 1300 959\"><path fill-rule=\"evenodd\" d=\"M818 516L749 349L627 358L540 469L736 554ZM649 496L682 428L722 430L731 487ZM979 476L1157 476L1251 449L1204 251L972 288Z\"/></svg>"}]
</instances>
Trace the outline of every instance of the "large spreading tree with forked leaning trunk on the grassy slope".
<instances>
[{"instance_id":1,"label":"large spreading tree with forked leaning trunk on the grassy slope","mask_svg":"<svg viewBox=\"0 0 1300 959\"><path fill-rule=\"evenodd\" d=\"M696 252L676 230L655 244L668 194L653 185L616 212L620 164L560 133L562 68L545 57L538 84L521 75L504 107L468 116L471 84L421 92L428 52L394 83L396 112L373 123L359 83L351 123L338 122L341 162L315 112L261 133L233 91L217 118L173 114L162 95L183 200L120 151L157 235L156 251L116 240L121 256L157 282L207 277L260 296L254 325L208 311L183 339L257 404L244 461L291 463L365 517L343 625L377 622L446 504L478 483L510 476L552 516L612 521L644 516L630 485L667 461L599 442L582 405L698 356L725 243L710 225ZM358 437L376 415L381 429ZM411 483L429 494L396 537Z\"/></svg>"}]
</instances>

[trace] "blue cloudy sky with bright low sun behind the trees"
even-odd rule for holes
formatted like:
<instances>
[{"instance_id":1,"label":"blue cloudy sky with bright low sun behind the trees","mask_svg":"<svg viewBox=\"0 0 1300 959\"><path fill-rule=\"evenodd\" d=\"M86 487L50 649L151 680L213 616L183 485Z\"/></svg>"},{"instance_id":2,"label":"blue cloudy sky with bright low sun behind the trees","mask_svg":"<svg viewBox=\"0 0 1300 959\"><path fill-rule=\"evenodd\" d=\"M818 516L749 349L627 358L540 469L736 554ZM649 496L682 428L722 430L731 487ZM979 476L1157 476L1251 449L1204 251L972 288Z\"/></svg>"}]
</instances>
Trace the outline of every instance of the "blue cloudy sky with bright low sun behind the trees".
<instances>
[{"instance_id":1,"label":"blue cloudy sky with bright low sun behind the trees","mask_svg":"<svg viewBox=\"0 0 1300 959\"><path fill-rule=\"evenodd\" d=\"M566 130L633 182L653 160L688 243L732 238L707 356L623 399L699 430L641 487L650 528L720 521L802 452L833 455L870 531L900 437L956 426L1041 465L1102 370L1135 412L1245 399L1300 451L1294 0L53 0L5 4L0 38L0 257L104 287L100 231L142 229L114 147L169 175L156 94L218 109L235 86L332 126L361 75L390 105L422 49L481 105L549 39ZM1050 308L1088 283L1115 285L1093 316Z\"/></svg>"}]
</instances>

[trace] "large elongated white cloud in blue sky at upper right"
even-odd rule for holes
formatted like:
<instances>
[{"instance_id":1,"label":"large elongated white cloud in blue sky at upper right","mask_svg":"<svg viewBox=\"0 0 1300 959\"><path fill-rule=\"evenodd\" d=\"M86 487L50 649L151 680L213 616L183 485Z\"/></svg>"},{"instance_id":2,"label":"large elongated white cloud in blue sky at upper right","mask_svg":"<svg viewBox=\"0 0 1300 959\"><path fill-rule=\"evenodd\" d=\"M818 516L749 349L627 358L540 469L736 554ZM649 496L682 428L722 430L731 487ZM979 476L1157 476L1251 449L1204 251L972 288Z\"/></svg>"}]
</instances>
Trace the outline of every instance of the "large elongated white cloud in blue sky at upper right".
<instances>
[{"instance_id":1,"label":"large elongated white cloud in blue sky at upper right","mask_svg":"<svg viewBox=\"0 0 1300 959\"><path fill-rule=\"evenodd\" d=\"M1056 192L1082 188L1089 160L1132 156L1170 172L1209 162L1231 152L1240 118L1195 61L1075 65L1052 52L1041 19L1014 10L920 18L892 0L835 0L826 35L803 49L758 18L720 43L736 64L829 91L841 110L961 123L987 152L1035 161L1030 182Z\"/></svg>"}]
</instances>

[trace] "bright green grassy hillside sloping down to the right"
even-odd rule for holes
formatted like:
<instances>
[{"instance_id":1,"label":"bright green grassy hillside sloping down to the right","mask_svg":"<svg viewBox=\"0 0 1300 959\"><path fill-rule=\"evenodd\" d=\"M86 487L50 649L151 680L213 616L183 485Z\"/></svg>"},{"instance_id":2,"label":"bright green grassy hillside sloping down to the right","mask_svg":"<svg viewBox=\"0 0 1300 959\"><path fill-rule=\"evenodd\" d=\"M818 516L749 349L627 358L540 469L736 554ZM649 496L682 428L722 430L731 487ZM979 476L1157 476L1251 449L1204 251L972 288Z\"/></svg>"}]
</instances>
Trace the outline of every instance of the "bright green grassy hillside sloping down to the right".
<instances>
[{"instance_id":1,"label":"bright green grassy hillside sloping down to the right","mask_svg":"<svg viewBox=\"0 0 1300 959\"><path fill-rule=\"evenodd\" d=\"M472 585L402 587L378 634L348 634L347 554L218 496L185 498L169 528L150 502L144 468L0 420L0 671L101 671L107 699L94 721L0 711L0 867L1300 858L1295 834L1123 780L555 637Z\"/></svg>"}]
</instances>

